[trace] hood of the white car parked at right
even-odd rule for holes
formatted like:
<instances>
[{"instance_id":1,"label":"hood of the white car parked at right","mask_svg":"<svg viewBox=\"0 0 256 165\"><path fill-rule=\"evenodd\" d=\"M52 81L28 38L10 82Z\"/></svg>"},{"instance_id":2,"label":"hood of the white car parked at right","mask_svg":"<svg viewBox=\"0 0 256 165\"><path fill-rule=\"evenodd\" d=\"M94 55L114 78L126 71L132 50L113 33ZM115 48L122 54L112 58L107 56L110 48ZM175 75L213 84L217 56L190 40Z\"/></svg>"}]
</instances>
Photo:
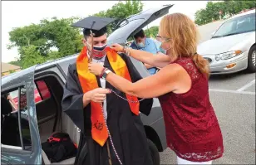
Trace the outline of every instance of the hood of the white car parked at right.
<instances>
[{"instance_id":1,"label":"hood of the white car parked at right","mask_svg":"<svg viewBox=\"0 0 256 165\"><path fill-rule=\"evenodd\" d=\"M250 35L254 35L255 32L247 32L237 34L233 36L224 36L219 38L212 38L208 41L204 41L199 44L197 52L199 55L216 55L230 50L236 44L246 40Z\"/></svg>"}]
</instances>

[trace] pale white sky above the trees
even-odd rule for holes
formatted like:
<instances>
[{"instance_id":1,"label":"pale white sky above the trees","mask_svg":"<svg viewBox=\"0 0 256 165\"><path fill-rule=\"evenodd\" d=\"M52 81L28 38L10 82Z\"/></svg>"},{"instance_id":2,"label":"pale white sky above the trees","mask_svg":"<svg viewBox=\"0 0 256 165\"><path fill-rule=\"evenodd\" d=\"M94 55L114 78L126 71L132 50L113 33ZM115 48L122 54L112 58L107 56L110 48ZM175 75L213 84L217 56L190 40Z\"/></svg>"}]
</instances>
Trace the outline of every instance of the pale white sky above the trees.
<instances>
[{"instance_id":1,"label":"pale white sky above the trees","mask_svg":"<svg viewBox=\"0 0 256 165\"><path fill-rule=\"evenodd\" d=\"M2 62L16 61L17 48L7 50L10 44L8 32L14 27L24 27L39 23L44 18L87 17L111 8L118 1L2 1ZM169 13L181 12L194 20L194 13L206 7L206 1L142 1L143 10L175 4ZM99 5L101 4L101 5ZM148 27L159 25L160 18Z\"/></svg>"}]
</instances>

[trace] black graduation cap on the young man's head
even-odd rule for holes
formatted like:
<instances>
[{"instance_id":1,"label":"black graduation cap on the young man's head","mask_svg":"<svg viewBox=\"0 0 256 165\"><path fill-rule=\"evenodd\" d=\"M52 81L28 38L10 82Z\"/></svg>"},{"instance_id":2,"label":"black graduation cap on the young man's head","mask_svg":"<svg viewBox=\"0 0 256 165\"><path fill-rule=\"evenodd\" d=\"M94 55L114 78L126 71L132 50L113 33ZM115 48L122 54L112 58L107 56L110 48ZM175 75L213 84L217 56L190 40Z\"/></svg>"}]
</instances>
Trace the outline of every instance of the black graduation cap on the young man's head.
<instances>
[{"instance_id":1,"label":"black graduation cap on the young man's head","mask_svg":"<svg viewBox=\"0 0 256 165\"><path fill-rule=\"evenodd\" d=\"M91 32L94 33L95 37L102 36L106 33L106 26L116 19L110 17L86 17L79 22L71 25L72 27L84 28L84 36L90 36ZM91 30L91 32L90 32Z\"/></svg>"}]
</instances>

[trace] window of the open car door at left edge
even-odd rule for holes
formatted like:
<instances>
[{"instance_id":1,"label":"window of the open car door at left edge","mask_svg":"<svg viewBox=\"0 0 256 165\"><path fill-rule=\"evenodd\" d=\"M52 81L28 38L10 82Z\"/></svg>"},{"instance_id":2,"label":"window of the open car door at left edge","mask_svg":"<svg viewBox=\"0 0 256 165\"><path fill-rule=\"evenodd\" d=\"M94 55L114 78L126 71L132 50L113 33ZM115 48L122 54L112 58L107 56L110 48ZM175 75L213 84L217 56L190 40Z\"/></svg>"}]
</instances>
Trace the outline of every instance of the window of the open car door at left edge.
<instances>
[{"instance_id":1,"label":"window of the open car door at left edge","mask_svg":"<svg viewBox=\"0 0 256 165\"><path fill-rule=\"evenodd\" d=\"M17 97L12 98L16 94ZM17 99L17 103L13 99ZM26 88L19 87L7 93L2 92L1 103L1 143L15 149L31 150Z\"/></svg>"}]
</instances>

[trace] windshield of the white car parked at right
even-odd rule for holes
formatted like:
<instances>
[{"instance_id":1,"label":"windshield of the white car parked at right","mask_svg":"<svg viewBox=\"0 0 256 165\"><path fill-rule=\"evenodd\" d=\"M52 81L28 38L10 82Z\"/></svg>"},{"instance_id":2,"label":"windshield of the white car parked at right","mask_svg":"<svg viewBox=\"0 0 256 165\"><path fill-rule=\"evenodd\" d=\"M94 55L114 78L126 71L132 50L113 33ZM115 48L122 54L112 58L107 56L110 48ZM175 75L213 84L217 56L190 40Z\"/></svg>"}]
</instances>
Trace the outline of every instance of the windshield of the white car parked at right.
<instances>
[{"instance_id":1,"label":"windshield of the white car parked at right","mask_svg":"<svg viewBox=\"0 0 256 165\"><path fill-rule=\"evenodd\" d=\"M213 37L231 36L244 32L255 31L255 13L241 17L235 17L219 27Z\"/></svg>"}]
</instances>

